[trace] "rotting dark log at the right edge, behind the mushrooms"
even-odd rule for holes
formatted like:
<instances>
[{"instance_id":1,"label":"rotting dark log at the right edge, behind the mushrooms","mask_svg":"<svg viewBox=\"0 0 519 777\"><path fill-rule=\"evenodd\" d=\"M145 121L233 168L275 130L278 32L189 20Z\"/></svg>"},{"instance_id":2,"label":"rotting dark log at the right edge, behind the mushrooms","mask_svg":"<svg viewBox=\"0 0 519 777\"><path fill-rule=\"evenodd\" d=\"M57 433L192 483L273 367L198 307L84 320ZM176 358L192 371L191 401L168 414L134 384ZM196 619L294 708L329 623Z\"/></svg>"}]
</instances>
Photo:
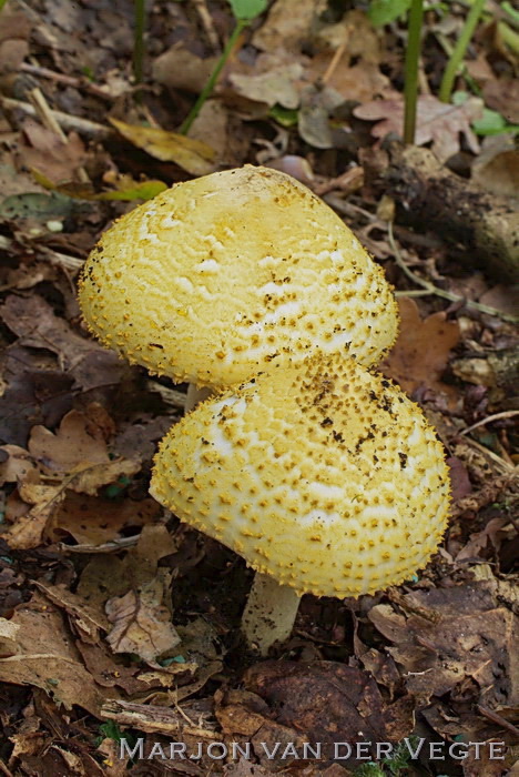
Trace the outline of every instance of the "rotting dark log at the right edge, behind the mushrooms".
<instances>
[{"instance_id":1,"label":"rotting dark log at the right edge, behind the mushrooms","mask_svg":"<svg viewBox=\"0 0 519 777\"><path fill-rule=\"evenodd\" d=\"M489 272L519 280L517 202L455 175L427 149L390 142L387 151L384 181L406 221L438 229L472 250Z\"/></svg>"}]
</instances>

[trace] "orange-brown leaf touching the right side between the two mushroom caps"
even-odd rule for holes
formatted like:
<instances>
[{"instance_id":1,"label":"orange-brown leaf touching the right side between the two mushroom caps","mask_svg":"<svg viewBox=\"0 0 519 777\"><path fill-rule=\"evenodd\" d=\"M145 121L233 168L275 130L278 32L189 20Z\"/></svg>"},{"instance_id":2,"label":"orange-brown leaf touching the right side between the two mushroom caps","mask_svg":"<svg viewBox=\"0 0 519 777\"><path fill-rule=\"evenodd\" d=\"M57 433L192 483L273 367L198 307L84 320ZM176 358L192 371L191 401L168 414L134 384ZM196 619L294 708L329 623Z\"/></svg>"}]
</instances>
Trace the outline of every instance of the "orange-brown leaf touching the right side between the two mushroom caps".
<instances>
[{"instance_id":1,"label":"orange-brown leaf touching the right side between the two mushroom caps","mask_svg":"<svg viewBox=\"0 0 519 777\"><path fill-rule=\"evenodd\" d=\"M421 320L416 302L407 296L399 297L398 307L400 334L380 370L409 394L424 385L454 401L456 390L441 382L441 374L460 339L458 323L446 321L444 312Z\"/></svg>"}]
</instances>

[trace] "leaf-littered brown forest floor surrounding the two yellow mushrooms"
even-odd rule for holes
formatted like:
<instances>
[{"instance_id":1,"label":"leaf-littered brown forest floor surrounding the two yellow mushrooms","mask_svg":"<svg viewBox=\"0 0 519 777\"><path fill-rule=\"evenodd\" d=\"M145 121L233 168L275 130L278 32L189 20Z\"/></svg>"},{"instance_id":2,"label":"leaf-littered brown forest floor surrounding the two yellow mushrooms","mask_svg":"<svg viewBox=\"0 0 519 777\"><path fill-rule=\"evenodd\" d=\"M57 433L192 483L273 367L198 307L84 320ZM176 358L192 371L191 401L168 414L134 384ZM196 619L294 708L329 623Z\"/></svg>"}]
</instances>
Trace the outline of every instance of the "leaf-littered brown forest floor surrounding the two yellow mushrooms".
<instances>
[{"instance_id":1,"label":"leaf-littered brown forest floor surrounding the two yellow mushrooms","mask_svg":"<svg viewBox=\"0 0 519 777\"><path fill-rule=\"evenodd\" d=\"M502 232L519 196L519 30L490 0L457 102L442 103L469 6L426 12L407 150L395 139L406 24L375 28L367 4L276 0L240 37L190 131L199 144L174 132L232 32L223 0L150 4L141 87L130 0L3 8L1 774L519 774L519 260ZM244 163L306 183L384 268L401 332L383 369L436 427L452 480L426 569L375 596L305 596L267 660L240 637L245 563L147 494L185 386L103 350L75 295L115 216L164 184ZM120 758L121 737L141 738L144 755L170 741L203 753ZM417 758L400 747L378 766L285 753L406 737L424 738ZM207 755L232 741L251 758ZM487 745L436 760L435 741ZM489 758L491 741L503 759ZM282 745L268 758L261 743Z\"/></svg>"}]
</instances>

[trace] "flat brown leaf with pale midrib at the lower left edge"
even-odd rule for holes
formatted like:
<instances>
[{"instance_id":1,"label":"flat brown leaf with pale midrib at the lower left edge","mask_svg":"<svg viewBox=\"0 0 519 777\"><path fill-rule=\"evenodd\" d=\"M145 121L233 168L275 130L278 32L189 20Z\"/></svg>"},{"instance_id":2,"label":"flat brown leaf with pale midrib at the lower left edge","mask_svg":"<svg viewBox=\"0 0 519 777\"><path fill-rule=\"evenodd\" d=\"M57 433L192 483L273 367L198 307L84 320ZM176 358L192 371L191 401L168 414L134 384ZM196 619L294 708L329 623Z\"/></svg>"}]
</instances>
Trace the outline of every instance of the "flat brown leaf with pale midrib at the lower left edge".
<instances>
[{"instance_id":1,"label":"flat brown leaf with pale midrib at the lower left edge","mask_svg":"<svg viewBox=\"0 0 519 777\"><path fill-rule=\"evenodd\" d=\"M20 627L18 653L0 658L0 682L37 686L68 709L77 704L98 716L103 702L118 696L94 683L63 617L41 594L21 605L10 623Z\"/></svg>"}]
</instances>

